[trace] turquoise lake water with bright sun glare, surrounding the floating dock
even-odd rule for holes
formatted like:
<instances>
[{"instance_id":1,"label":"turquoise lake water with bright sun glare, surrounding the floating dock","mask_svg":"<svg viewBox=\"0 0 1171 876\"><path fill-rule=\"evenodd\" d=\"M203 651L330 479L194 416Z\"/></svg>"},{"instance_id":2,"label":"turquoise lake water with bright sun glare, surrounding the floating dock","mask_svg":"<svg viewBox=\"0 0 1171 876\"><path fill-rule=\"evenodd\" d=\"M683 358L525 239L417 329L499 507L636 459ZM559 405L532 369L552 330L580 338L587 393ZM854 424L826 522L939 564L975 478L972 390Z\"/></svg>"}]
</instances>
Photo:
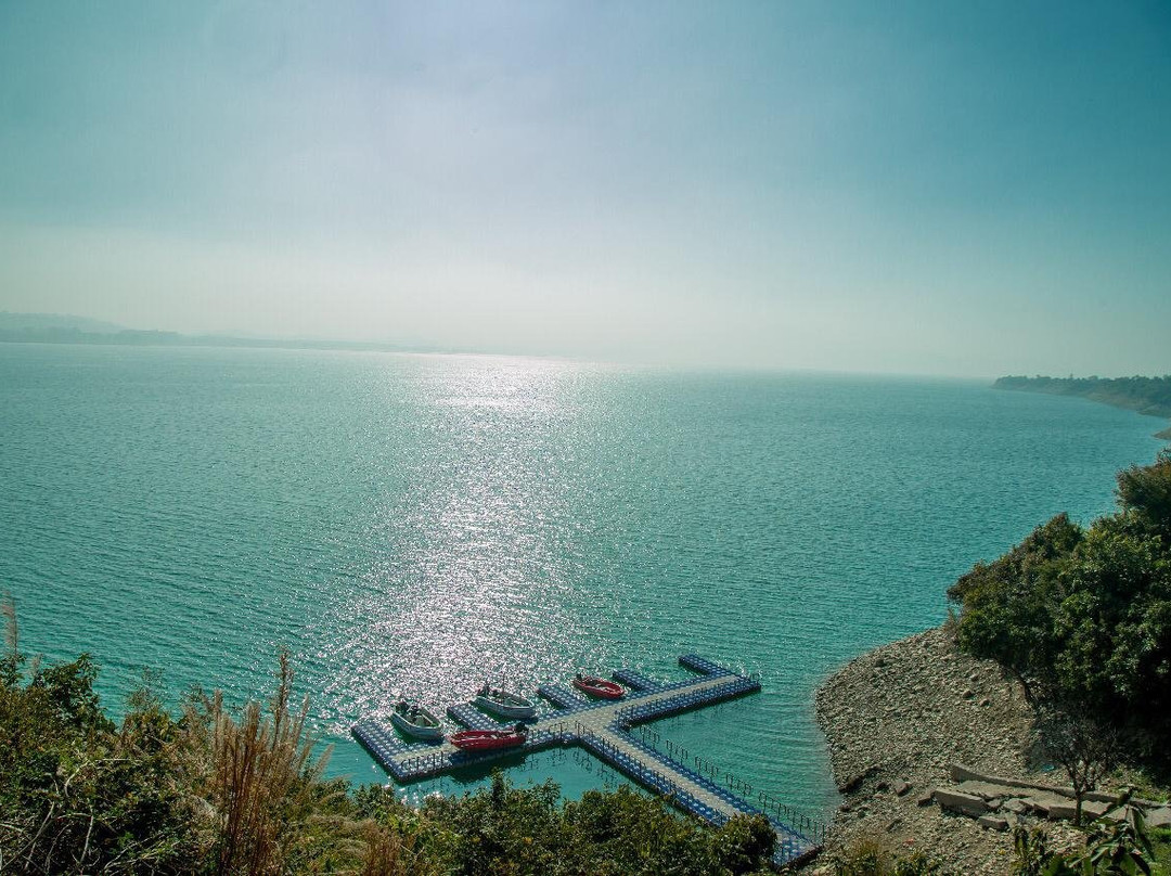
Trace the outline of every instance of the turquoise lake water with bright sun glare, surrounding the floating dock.
<instances>
[{"instance_id":1,"label":"turquoise lake water with bright sun glare, surrounding the floating dock","mask_svg":"<svg viewBox=\"0 0 1171 876\"><path fill-rule=\"evenodd\" d=\"M819 682L1053 514L1110 511L1162 426L971 381L0 344L0 590L114 711L143 666L263 694L287 645L356 781L385 776L348 727L399 694L696 651L763 692L656 730L823 813Z\"/></svg>"}]
</instances>

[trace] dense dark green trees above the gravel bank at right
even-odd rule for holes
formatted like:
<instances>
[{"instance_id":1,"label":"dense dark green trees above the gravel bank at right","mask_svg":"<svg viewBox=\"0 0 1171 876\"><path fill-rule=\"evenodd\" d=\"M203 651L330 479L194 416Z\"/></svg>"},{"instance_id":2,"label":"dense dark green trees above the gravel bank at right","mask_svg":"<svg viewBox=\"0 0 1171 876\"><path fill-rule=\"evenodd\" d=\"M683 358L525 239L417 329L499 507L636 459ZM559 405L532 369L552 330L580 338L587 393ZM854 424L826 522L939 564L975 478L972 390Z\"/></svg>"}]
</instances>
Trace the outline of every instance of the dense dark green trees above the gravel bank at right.
<instances>
[{"instance_id":1,"label":"dense dark green trees above the gravel bank at right","mask_svg":"<svg viewBox=\"0 0 1171 876\"><path fill-rule=\"evenodd\" d=\"M1059 514L949 590L960 648L1020 680L1078 814L1119 762L1171 775L1171 451L1121 472L1117 498L1088 528Z\"/></svg>"}]
</instances>

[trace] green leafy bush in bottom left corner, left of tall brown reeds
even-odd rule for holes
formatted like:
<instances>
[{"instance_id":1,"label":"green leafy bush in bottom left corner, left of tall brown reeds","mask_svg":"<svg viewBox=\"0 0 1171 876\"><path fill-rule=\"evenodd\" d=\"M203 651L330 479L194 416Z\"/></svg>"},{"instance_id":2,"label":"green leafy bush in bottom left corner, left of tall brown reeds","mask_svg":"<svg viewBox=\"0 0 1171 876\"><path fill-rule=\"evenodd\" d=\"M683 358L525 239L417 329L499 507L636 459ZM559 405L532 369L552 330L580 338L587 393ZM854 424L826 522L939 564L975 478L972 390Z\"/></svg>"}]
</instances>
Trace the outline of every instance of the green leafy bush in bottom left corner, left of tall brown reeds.
<instances>
[{"instance_id":1,"label":"green leafy bush in bottom left corner, left of tall brown reeds","mask_svg":"<svg viewBox=\"0 0 1171 876\"><path fill-rule=\"evenodd\" d=\"M170 717L122 726L93 692L96 665L0 683L0 871L180 872L196 854Z\"/></svg>"}]
</instances>

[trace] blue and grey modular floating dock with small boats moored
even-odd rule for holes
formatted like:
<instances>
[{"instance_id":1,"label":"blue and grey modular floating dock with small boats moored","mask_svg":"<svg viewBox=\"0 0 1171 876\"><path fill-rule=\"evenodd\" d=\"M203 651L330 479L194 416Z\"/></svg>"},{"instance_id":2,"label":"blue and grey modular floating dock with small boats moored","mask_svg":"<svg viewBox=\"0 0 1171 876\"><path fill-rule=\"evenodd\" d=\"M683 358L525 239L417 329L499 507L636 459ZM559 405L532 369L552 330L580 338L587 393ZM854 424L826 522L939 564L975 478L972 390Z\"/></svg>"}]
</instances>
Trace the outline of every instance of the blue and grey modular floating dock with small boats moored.
<instances>
[{"instance_id":1,"label":"blue and grey modular floating dock with small boats moored","mask_svg":"<svg viewBox=\"0 0 1171 876\"><path fill-rule=\"evenodd\" d=\"M674 684L659 684L634 670L621 669L614 678L629 690L619 700L591 700L562 685L547 684L537 693L555 706L553 711L526 721L528 739L521 746L491 752L463 752L451 742L406 742L392 727L365 719L354 725L354 737L395 781L408 783L448 773L466 766L515 758L550 746L578 745L623 773L631 781L667 796L674 806L710 824L720 826L734 815L763 814L776 831L775 864L804 861L819 850L812 839L812 822L804 831L733 794L728 788L701 775L687 764L635 739L630 728L671 714L755 693L760 679L742 676L697 655L679 658L679 665L699 675ZM450 706L447 716L473 730L502 725L470 703ZM699 759L696 759L699 766ZM749 789L751 793L751 789Z\"/></svg>"}]
</instances>

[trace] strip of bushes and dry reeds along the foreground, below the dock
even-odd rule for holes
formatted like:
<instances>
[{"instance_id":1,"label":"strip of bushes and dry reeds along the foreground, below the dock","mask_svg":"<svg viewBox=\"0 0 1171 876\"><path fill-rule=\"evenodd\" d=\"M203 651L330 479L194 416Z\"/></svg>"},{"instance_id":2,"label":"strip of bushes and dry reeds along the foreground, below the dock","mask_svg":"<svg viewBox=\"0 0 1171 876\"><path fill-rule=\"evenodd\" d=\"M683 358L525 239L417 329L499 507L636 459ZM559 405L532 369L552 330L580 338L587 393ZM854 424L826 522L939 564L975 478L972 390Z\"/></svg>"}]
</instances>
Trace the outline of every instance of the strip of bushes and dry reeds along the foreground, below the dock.
<instances>
[{"instance_id":1,"label":"strip of bushes and dry reeds along the foreground, below the dock","mask_svg":"<svg viewBox=\"0 0 1171 876\"><path fill-rule=\"evenodd\" d=\"M0 872L706 876L766 872L775 835L758 816L713 829L629 788L561 802L555 785L429 799L321 778L281 658L267 707L218 694L176 717L144 677L121 725L81 656L0 658Z\"/></svg>"}]
</instances>

